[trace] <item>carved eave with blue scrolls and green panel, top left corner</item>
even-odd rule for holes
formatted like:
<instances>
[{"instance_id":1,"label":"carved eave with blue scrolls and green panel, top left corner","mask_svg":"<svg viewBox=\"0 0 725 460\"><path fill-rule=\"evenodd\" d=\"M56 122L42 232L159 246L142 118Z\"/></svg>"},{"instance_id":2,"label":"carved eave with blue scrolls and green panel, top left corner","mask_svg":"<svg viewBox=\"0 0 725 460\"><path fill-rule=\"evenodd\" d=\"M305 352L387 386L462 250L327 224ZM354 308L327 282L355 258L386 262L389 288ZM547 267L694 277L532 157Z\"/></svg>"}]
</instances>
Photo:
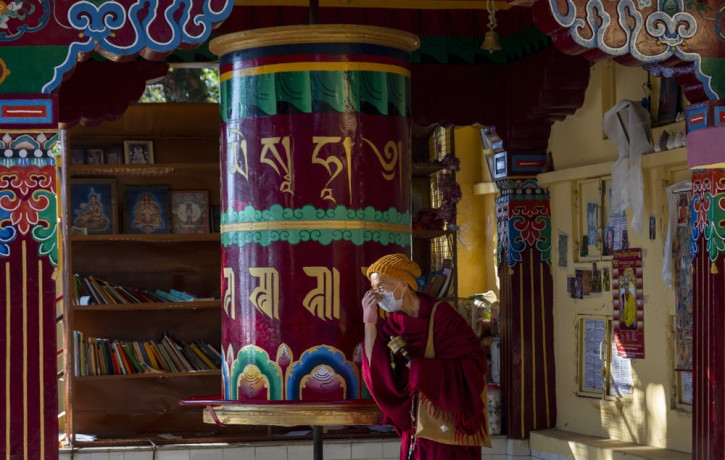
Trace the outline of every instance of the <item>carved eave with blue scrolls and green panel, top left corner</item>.
<instances>
[{"instance_id":1,"label":"carved eave with blue scrolls and green panel, top left corner","mask_svg":"<svg viewBox=\"0 0 725 460\"><path fill-rule=\"evenodd\" d=\"M159 60L206 42L233 0L6 2L0 92L51 94L78 62ZM28 63L31 65L28 65Z\"/></svg>"}]
</instances>

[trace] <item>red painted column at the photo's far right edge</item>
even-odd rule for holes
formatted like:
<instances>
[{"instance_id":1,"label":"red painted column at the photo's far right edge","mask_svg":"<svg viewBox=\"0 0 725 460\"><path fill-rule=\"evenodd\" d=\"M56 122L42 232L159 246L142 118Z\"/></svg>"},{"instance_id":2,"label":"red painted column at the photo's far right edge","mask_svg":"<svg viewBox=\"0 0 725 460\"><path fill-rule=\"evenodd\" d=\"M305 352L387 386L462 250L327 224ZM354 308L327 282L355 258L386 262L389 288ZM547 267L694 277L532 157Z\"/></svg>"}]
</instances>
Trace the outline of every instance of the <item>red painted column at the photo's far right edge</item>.
<instances>
[{"instance_id":1,"label":"red painted column at the photo's far right edge","mask_svg":"<svg viewBox=\"0 0 725 460\"><path fill-rule=\"evenodd\" d=\"M712 111L709 115L704 126L713 124ZM689 108L688 125L693 116ZM692 458L700 460L721 458L725 452L725 126L691 131L687 139L693 168Z\"/></svg>"}]
</instances>

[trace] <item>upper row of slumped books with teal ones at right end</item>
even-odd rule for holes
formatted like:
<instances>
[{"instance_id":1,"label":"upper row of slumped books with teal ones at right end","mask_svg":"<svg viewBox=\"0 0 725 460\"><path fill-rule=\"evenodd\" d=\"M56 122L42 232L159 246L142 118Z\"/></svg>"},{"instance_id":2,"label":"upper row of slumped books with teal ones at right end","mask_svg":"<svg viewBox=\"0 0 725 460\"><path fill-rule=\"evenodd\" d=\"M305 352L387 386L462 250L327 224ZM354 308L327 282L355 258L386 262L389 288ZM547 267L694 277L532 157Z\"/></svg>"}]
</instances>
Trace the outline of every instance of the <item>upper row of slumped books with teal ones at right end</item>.
<instances>
[{"instance_id":1,"label":"upper row of slumped books with teal ones at right end","mask_svg":"<svg viewBox=\"0 0 725 460\"><path fill-rule=\"evenodd\" d=\"M195 300L214 300L197 297L188 292L170 289L137 289L111 284L94 276L73 275L73 301L75 305L113 305L119 303L147 302L192 302Z\"/></svg>"}]
</instances>

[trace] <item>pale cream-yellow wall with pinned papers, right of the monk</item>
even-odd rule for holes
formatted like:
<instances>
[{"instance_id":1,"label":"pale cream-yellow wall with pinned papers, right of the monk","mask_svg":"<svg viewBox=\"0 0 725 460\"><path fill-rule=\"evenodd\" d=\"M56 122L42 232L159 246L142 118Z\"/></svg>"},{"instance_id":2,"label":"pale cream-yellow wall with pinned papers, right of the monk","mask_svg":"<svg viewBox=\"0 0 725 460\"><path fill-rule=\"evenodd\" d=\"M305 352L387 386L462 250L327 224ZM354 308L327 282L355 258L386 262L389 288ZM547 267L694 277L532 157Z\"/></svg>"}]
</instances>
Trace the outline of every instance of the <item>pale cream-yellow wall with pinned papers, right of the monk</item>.
<instances>
[{"instance_id":1,"label":"pale cream-yellow wall with pinned papers, right of the monk","mask_svg":"<svg viewBox=\"0 0 725 460\"><path fill-rule=\"evenodd\" d=\"M644 321L646 359L632 360L635 382L631 398L622 401L592 399L577 396L577 316L580 314L612 315L611 292L592 295L582 300L566 292L567 275L577 268L591 270L590 263L574 263L572 227L572 181L560 181L562 169L613 161L617 158L614 145L604 140L600 128L602 113L602 74L606 64L592 68L592 79L584 106L573 116L552 129L550 150L556 172L541 175L549 187L553 243L552 272L554 282L554 322L556 385L559 428L579 433L610 437L639 444L691 451L691 414L674 404L673 323L674 291L662 283L663 247L666 237L666 181L688 175L686 165L654 165L644 170L645 234L636 235L630 229L630 247L642 248L644 258ZM646 73L640 68L615 67L616 100L639 100ZM684 153L684 152L683 152ZM659 154L652 154L659 155ZM682 155L684 156L684 155ZM671 169L679 170L677 177ZM608 175L602 166L593 175ZM628 213L628 215L631 214ZM656 239L650 240L649 216L657 219ZM558 234L569 235L567 268L559 268ZM611 263L598 263L598 268Z\"/></svg>"}]
</instances>

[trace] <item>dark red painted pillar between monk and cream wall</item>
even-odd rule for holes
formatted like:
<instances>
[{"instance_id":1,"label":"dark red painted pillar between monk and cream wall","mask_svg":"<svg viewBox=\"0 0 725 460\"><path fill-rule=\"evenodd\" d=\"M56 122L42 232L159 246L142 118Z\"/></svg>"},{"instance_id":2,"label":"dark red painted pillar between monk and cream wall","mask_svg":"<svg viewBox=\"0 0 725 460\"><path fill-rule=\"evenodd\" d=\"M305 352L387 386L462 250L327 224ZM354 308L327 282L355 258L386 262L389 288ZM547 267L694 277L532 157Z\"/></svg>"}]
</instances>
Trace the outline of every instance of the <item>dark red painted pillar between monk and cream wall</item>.
<instances>
[{"instance_id":1,"label":"dark red painted pillar between monk and cream wall","mask_svg":"<svg viewBox=\"0 0 725 460\"><path fill-rule=\"evenodd\" d=\"M523 439L556 425L551 210L532 179L497 184L504 424Z\"/></svg>"}]
</instances>

